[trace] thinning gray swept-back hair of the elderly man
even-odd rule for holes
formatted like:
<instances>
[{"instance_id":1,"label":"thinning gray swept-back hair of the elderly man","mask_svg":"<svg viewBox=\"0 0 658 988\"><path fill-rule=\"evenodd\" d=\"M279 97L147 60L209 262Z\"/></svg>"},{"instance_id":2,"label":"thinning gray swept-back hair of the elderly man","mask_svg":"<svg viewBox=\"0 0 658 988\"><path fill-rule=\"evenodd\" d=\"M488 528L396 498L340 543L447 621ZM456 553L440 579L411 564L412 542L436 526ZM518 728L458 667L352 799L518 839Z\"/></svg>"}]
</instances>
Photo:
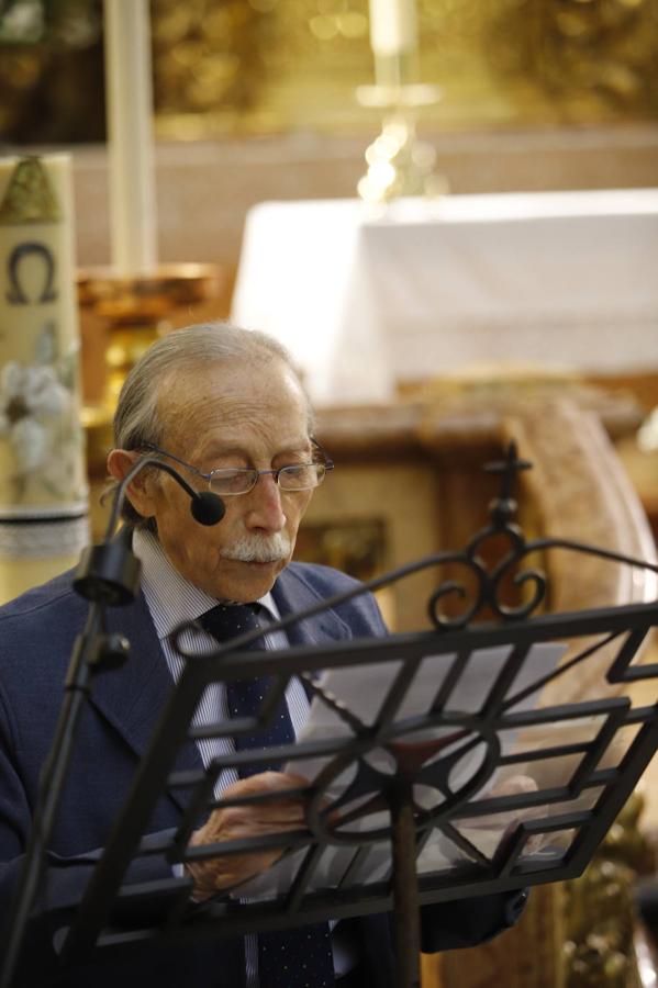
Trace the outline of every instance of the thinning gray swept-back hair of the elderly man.
<instances>
[{"instance_id":1,"label":"thinning gray swept-back hair of the elderly man","mask_svg":"<svg viewBox=\"0 0 658 988\"><path fill-rule=\"evenodd\" d=\"M180 374L210 362L242 360L252 367L281 360L295 374L298 368L286 349L274 337L256 329L242 329L230 323L199 323L175 329L156 340L135 363L123 383L114 413L114 446L141 449L146 444L160 446L166 427L159 403L161 386L174 373ZM304 392L305 393L305 392ZM309 433L313 430L313 413L309 408ZM116 482L111 482L108 496ZM126 499L124 518L133 525L147 524ZM152 526L149 526L152 527Z\"/></svg>"}]
</instances>

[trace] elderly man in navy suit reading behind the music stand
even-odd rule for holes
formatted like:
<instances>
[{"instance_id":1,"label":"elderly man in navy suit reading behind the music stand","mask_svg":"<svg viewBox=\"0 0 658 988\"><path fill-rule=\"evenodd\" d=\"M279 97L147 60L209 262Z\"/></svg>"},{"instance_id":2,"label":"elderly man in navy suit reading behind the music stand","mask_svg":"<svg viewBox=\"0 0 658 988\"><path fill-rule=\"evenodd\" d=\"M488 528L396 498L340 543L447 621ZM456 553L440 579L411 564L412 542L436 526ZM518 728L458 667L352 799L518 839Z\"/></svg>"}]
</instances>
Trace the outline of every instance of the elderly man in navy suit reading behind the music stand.
<instances>
[{"instance_id":1,"label":"elderly man in navy suit reading behind the music stand","mask_svg":"<svg viewBox=\"0 0 658 988\"><path fill-rule=\"evenodd\" d=\"M143 564L134 605L109 617L132 643L132 658L94 682L85 711L69 778L51 840L45 890L31 936L24 981L41 984L52 972L48 933L53 917L79 899L98 849L124 799L158 710L180 672L171 632L198 619L216 638L215 618L231 622L249 607L264 627L266 648L381 636L386 628L369 595L293 626L288 635L267 632L278 617L301 610L348 588L332 570L291 563L297 531L326 459L313 439L312 415L287 352L272 339L227 325L193 326L172 333L142 358L129 375L115 415L110 474L121 481L148 452L176 467L196 490L222 496L221 524L199 525L189 496L163 471L146 469L127 489L126 516L134 525L133 549ZM214 615L214 617L210 617ZM0 611L0 895L4 911L19 874L31 822L40 766L48 751L63 681L74 640L86 616L71 591L70 574L23 595ZM213 624L214 622L214 624ZM221 636L220 636L221 637ZM237 700L216 687L198 717L231 716ZM292 681L277 718L278 741L294 739L309 708L300 682ZM270 739L260 739L263 744ZM218 753L203 741L192 759L199 766ZM256 739L258 743L258 739ZM225 749L224 749L225 751ZM234 791L289 788L295 776L264 772L248 778L224 773ZM176 826L180 794L171 790L152 820L157 833ZM215 810L193 834L202 844L269 830L303 826L299 800ZM266 868L276 855L243 855L189 866L194 898L203 899ZM148 861L141 877L163 877L166 865ZM523 895L490 896L423 910L425 950L467 946L513 923ZM281 964L281 957L288 962ZM268 933L245 941L157 946L129 957L103 958L69 970L66 986L122 984L158 988L295 988L336 985L388 986L392 948L386 917L366 917L302 931ZM48 983L51 984L51 981Z\"/></svg>"}]
</instances>

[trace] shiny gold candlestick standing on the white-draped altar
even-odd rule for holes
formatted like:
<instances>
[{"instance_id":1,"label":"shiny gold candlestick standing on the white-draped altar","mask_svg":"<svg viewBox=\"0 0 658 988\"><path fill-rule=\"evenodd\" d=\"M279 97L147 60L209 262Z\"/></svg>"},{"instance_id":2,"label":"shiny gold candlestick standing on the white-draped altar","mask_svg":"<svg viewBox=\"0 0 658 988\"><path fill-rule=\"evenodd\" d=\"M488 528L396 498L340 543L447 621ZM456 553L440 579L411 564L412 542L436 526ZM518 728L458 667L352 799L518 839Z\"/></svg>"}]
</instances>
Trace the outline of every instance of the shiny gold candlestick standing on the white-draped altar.
<instances>
[{"instance_id":1,"label":"shiny gold candlestick standing on the white-draped altar","mask_svg":"<svg viewBox=\"0 0 658 988\"><path fill-rule=\"evenodd\" d=\"M381 134L366 150L368 170L357 186L366 202L437 197L448 191L446 178L435 171L436 151L416 137L419 111L437 103L442 90L417 79L416 48L375 52L375 86L359 86L356 91L361 106L384 111Z\"/></svg>"}]
</instances>

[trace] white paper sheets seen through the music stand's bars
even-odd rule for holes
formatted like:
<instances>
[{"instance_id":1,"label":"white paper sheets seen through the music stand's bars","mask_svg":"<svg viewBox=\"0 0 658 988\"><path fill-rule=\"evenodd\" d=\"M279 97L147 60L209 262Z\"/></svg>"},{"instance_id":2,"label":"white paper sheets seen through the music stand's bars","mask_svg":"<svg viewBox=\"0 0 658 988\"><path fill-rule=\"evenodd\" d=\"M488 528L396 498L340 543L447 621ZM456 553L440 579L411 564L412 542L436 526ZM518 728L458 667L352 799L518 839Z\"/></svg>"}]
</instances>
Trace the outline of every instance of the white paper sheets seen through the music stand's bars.
<instances>
[{"instance_id":1,"label":"white paper sheets seen through the music stand's bars","mask_svg":"<svg viewBox=\"0 0 658 988\"><path fill-rule=\"evenodd\" d=\"M444 710L451 715L473 715L481 709L494 685L498 675L502 671L512 651L512 645L475 650L468 662L465 663L461 674L453 688ZM506 691L511 697L529 687L537 680L553 672L566 651L564 644L537 643L534 644L516 674L514 681ZM434 704L435 697L449 673L456 659L455 654L425 656L416 672L414 681L409 688L403 703L395 714L395 725L404 720L427 715ZM333 669L325 672L320 678L320 685L331 693L337 700L344 703L349 710L365 725L372 725L379 717L382 705L389 694L395 676L402 670L402 661L372 663L369 665L349 666L348 669ZM511 711L531 709L536 706L538 691L525 697L521 703L511 708ZM406 742L432 741L445 738L447 733L454 733L454 727L431 727L423 732L414 731L403 733L401 740ZM350 728L342 718L322 699L315 697L311 704L309 719L298 736L298 743L305 741L326 741L348 739L354 737ZM475 736L470 734L472 739ZM453 742L444 748L437 757L442 760L450 752L464 745L465 739ZM511 750L514 743L514 732L504 732L505 750ZM484 741L469 746L468 752L457 761L449 774L451 791L459 790L478 772L487 754ZM395 760L383 748L377 748L368 752L365 760L376 771L391 774L395 771ZM314 782L320 772L328 765L332 757L316 757L293 760L288 763L285 771L302 775ZM324 789L330 800L338 798L345 787L352 782L357 772L356 762L346 771L337 774L331 784ZM483 781L483 789L489 793L495 787L495 774ZM502 794L497 794L502 795ZM425 809L431 809L443 801L443 796L430 786L415 786L414 797ZM500 815L499 818L490 818L483 821L473 821L472 827L459 827L460 832L487 856L494 853L501 838L510 823L509 818ZM381 811L370 813L360 821L350 824L350 831L363 833L372 831L378 827L388 827L389 813ZM309 890L335 887L343 878L345 869L350 863L355 845L330 845L324 851L320 864L316 867ZM241 886L239 897L245 898L271 898L285 894L292 883L297 871L303 861L305 850L286 855L276 865L264 872L257 878ZM472 861L472 857L449 841L440 831L436 831L425 844L419 855L419 874L449 868L457 863ZM390 842L382 840L369 845L367 855L364 855L363 864L353 876L353 884L377 883L388 877L390 869ZM236 891L237 895L237 891Z\"/></svg>"}]
</instances>

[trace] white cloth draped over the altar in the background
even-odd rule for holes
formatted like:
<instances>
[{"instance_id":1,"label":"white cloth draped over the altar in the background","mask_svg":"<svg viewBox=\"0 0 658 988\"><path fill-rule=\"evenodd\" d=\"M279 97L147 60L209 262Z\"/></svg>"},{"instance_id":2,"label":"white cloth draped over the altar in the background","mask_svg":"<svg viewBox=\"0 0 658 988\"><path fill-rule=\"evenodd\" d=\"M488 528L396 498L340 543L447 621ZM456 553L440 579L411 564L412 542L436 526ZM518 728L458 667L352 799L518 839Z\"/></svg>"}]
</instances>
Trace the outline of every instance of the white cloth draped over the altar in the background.
<instances>
[{"instance_id":1,"label":"white cloth draped over the altar in the background","mask_svg":"<svg viewBox=\"0 0 658 988\"><path fill-rule=\"evenodd\" d=\"M288 346L319 405L491 361L646 371L657 261L658 189L268 202L232 318Z\"/></svg>"}]
</instances>

